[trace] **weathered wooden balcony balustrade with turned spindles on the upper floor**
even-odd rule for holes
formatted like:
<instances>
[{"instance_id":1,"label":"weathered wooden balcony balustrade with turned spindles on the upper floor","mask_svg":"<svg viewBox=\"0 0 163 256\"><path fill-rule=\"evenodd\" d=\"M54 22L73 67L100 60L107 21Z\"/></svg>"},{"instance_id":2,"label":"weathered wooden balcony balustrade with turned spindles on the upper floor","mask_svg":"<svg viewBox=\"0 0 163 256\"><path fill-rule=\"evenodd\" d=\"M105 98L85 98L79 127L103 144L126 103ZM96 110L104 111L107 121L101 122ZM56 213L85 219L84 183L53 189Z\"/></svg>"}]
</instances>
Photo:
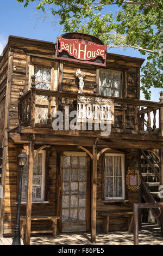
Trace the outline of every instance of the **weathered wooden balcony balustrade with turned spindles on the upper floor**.
<instances>
[{"instance_id":1,"label":"weathered wooden balcony balustrade with turned spindles on the upper floor","mask_svg":"<svg viewBox=\"0 0 163 256\"><path fill-rule=\"evenodd\" d=\"M80 94L81 95L81 94ZM35 76L32 76L32 88L30 91L20 94L20 124L21 126L35 127L35 105L36 96L44 96L43 99L47 99L47 126L52 126L52 100L53 97L60 100L62 106L68 105L69 101L76 102L78 93L74 92L60 92L60 91L49 91L41 90L35 88ZM82 94L82 96L90 96L89 94ZM106 96L97 96L107 99L114 100L116 112L121 112L122 121L119 127L121 129L128 129L128 117L132 116L134 118L133 128L136 131L146 131L152 132L156 130L156 110L159 110L163 105L162 102L149 102L146 100L136 100L136 99L123 99L123 98L112 98ZM40 97L41 99L41 97ZM41 107L39 105L39 107ZM58 108L61 107L58 104ZM42 108L45 106L42 104ZM77 105L74 105L77 108ZM64 108L63 108L64 109ZM63 110L64 111L64 110ZM153 127L151 127L151 113L153 113ZM120 116L120 114L118 114ZM146 115L146 116L145 116ZM116 115L115 115L116 116ZM145 118L147 117L147 121ZM115 118L116 119L116 118ZM40 125L41 126L41 125ZM43 123L45 127L45 123Z\"/></svg>"}]
</instances>

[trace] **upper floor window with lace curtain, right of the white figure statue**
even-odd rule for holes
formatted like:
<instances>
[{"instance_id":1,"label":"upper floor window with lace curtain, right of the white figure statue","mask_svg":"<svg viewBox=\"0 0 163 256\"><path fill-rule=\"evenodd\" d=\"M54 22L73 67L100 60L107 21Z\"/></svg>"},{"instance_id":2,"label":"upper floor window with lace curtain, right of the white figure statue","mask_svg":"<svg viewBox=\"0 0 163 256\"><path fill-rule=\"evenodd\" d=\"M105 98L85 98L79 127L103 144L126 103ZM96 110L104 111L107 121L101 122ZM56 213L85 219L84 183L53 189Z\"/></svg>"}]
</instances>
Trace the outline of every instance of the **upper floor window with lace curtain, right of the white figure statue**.
<instances>
[{"instance_id":1,"label":"upper floor window with lace curtain, right of the white figure statue","mask_svg":"<svg viewBox=\"0 0 163 256\"><path fill-rule=\"evenodd\" d=\"M100 69L100 94L110 97L122 97L122 72Z\"/></svg>"}]
</instances>

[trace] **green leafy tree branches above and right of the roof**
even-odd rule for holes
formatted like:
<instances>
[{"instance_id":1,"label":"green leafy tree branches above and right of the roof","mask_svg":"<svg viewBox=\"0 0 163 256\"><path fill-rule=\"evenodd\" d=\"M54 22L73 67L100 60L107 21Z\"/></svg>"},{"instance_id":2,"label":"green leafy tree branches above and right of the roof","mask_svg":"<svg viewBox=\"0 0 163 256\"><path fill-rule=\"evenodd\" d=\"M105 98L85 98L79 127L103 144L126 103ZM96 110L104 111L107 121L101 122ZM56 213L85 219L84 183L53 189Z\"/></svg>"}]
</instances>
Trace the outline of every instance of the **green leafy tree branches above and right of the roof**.
<instances>
[{"instance_id":1,"label":"green leafy tree branches above and right of the roof","mask_svg":"<svg viewBox=\"0 0 163 256\"><path fill-rule=\"evenodd\" d=\"M59 17L64 32L81 31L95 35L111 47L131 47L147 55L142 67L141 89L150 99L151 87L163 88L163 3L161 0L17 0L27 7ZM116 20L109 5L118 5Z\"/></svg>"}]
</instances>

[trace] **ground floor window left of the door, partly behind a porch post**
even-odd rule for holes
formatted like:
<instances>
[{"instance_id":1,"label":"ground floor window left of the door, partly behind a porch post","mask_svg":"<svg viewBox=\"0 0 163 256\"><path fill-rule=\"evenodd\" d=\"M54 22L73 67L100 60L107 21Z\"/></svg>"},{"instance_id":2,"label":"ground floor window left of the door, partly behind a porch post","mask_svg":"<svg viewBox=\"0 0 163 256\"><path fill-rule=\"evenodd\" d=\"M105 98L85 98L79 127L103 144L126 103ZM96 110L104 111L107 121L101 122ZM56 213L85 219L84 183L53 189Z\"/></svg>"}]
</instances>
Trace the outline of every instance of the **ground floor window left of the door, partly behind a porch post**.
<instances>
[{"instance_id":1,"label":"ground floor window left of the door, partly behind a porch post","mask_svg":"<svg viewBox=\"0 0 163 256\"><path fill-rule=\"evenodd\" d=\"M45 156L46 151L40 151L36 154L33 164L33 189L32 200L43 201L45 195ZM29 156L27 156L26 164L23 167L22 178L22 201L27 201L28 189L28 166Z\"/></svg>"}]
</instances>

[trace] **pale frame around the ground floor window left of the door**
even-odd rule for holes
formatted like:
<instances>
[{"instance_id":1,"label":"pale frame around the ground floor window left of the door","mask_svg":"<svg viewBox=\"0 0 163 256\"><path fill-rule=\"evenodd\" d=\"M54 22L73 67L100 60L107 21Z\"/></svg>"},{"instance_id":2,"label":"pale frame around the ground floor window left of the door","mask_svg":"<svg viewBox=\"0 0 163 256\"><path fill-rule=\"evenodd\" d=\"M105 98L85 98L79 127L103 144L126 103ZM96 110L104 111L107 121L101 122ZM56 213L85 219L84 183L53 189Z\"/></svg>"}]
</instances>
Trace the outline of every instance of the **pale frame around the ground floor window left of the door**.
<instances>
[{"instance_id":1,"label":"pale frame around the ground floor window left of the door","mask_svg":"<svg viewBox=\"0 0 163 256\"><path fill-rule=\"evenodd\" d=\"M34 153L36 150L34 150ZM22 153L26 153L25 150L22 150ZM39 153L42 153L42 182L41 182L41 198L38 199L32 199L32 203L36 203L37 201L40 203L45 200L45 162L46 162L46 151L40 150ZM29 157L29 156L28 156ZM21 203L26 203L26 199L22 199Z\"/></svg>"}]
</instances>

